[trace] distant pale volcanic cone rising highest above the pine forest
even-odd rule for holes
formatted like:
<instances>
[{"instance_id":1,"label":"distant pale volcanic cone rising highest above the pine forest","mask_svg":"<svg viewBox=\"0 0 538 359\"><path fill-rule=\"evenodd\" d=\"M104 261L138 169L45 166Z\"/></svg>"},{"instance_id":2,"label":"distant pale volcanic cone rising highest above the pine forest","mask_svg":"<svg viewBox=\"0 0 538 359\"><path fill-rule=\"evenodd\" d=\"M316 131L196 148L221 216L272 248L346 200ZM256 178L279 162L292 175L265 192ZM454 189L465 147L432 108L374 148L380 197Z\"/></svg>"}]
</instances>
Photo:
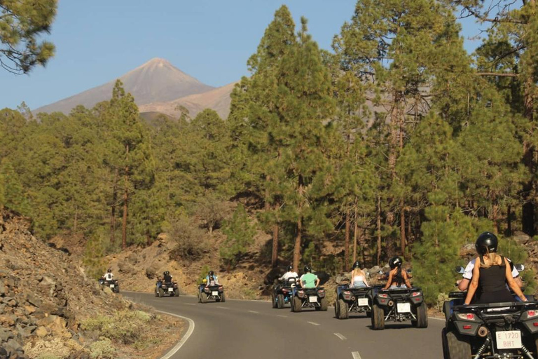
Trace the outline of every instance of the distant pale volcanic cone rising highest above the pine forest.
<instances>
[{"instance_id":1,"label":"distant pale volcanic cone rising highest above the pine forest","mask_svg":"<svg viewBox=\"0 0 538 359\"><path fill-rule=\"evenodd\" d=\"M214 89L160 58L149 60L144 65L120 76L119 79L123 82L125 91L135 97L135 102L139 106L151 102L168 102ZM116 80L113 80L102 86L90 88L78 95L39 107L34 112L60 111L67 114L79 104L91 108L97 102L110 99L115 82Z\"/></svg>"}]
</instances>

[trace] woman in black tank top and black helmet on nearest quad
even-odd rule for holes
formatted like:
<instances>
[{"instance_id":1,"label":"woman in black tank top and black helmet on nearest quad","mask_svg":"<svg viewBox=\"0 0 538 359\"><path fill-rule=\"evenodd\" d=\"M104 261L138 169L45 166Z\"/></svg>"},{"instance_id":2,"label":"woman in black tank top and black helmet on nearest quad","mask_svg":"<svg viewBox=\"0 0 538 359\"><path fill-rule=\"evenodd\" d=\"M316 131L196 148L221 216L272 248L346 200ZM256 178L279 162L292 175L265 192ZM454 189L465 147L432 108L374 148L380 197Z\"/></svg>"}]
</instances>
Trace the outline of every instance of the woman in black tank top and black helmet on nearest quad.
<instances>
[{"instance_id":1,"label":"woman in black tank top and black helmet on nearest quad","mask_svg":"<svg viewBox=\"0 0 538 359\"><path fill-rule=\"evenodd\" d=\"M471 301L475 304L514 302L506 283L523 302L527 302L527 298L513 279L508 260L497 255L497 245L497 236L493 233L484 232L478 236L475 244L478 260L473 269L473 278L465 304L470 304Z\"/></svg>"}]
</instances>

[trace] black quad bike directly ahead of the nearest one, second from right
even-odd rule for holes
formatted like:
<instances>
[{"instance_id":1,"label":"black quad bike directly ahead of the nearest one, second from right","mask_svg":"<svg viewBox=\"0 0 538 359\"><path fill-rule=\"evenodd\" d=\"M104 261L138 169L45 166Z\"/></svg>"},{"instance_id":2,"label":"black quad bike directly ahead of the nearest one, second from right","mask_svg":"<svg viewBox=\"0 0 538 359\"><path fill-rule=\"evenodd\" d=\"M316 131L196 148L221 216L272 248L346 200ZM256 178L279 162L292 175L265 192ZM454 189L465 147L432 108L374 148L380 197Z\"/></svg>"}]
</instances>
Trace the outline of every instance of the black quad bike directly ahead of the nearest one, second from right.
<instances>
[{"instance_id":1,"label":"black quad bike directly ahead of the nearest one, second from right","mask_svg":"<svg viewBox=\"0 0 538 359\"><path fill-rule=\"evenodd\" d=\"M372 328L385 329L387 320L405 322L413 327L428 327L428 311L420 288L375 290L372 299Z\"/></svg>"}]
</instances>

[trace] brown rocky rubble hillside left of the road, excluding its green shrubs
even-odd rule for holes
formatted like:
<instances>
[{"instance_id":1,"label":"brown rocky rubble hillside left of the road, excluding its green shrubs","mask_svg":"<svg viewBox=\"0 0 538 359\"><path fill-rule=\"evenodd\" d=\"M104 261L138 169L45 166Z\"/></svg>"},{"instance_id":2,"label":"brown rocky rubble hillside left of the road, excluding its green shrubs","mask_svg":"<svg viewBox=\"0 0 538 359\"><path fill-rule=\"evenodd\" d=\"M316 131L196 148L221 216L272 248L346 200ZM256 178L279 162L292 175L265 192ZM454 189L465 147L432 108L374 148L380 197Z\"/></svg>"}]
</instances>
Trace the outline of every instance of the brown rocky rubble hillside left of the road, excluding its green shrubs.
<instances>
[{"instance_id":1,"label":"brown rocky rubble hillside left of the road, excluding its green shrubs","mask_svg":"<svg viewBox=\"0 0 538 359\"><path fill-rule=\"evenodd\" d=\"M167 327L162 321L169 321L172 333L166 335L179 339L176 321L132 309L132 303L88 279L68 253L32 236L26 219L0 211L0 348L8 358L39 358L46 353L54 358L101 358L99 351L104 349L94 344L114 352L114 341L102 341L95 323L86 321L106 321L118 313L141 313L152 331ZM145 357L158 355L170 344L162 343L163 348L153 348L155 353ZM123 346L116 353L132 357L132 350Z\"/></svg>"}]
</instances>

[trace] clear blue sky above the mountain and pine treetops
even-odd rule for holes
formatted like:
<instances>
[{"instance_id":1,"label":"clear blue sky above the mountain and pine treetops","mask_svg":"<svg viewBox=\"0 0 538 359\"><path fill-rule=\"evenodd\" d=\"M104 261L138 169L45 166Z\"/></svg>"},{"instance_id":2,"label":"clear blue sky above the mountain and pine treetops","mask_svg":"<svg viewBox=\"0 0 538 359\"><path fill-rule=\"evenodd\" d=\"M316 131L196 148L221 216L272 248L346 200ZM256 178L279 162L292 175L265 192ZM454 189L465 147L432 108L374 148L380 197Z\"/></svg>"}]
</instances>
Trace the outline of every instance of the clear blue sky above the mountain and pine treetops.
<instances>
[{"instance_id":1,"label":"clear blue sky above the mountain and pine treetops","mask_svg":"<svg viewBox=\"0 0 538 359\"><path fill-rule=\"evenodd\" d=\"M45 68L16 76L0 71L0 109L25 101L32 109L116 79L153 57L163 57L211 86L248 74L265 27L282 4L296 24L329 49L356 0L60 0L47 38L56 55ZM471 21L463 36L477 33ZM466 40L469 51L479 41Z\"/></svg>"}]
</instances>

